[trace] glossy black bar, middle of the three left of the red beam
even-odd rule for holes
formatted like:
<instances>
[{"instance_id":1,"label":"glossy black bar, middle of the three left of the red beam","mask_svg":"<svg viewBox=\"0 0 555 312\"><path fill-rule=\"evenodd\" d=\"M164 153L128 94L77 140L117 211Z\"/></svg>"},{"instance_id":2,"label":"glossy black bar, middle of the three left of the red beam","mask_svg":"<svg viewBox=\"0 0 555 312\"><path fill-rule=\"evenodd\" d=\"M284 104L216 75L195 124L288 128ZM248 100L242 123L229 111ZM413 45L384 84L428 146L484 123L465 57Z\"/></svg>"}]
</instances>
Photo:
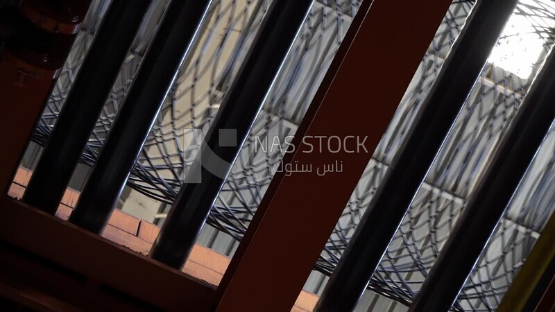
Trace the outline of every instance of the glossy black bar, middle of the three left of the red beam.
<instances>
[{"instance_id":1,"label":"glossy black bar, middle of the three left of the red beam","mask_svg":"<svg viewBox=\"0 0 555 312\"><path fill-rule=\"evenodd\" d=\"M103 231L209 4L210 0L171 1L69 216L71 223L94 233Z\"/></svg>"}]
</instances>

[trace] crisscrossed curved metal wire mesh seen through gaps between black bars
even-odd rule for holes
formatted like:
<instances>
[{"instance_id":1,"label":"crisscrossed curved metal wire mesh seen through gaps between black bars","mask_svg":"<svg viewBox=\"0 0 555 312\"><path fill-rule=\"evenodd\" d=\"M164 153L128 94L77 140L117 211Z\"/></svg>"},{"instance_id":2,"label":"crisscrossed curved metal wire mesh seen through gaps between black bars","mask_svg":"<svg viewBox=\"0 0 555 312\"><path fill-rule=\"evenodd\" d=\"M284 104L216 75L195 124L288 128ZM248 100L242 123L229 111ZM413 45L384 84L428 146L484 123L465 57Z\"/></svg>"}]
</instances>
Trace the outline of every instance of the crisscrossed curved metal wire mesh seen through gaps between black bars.
<instances>
[{"instance_id":1,"label":"crisscrossed curved metal wire mesh seen through gaps between black bars","mask_svg":"<svg viewBox=\"0 0 555 312\"><path fill-rule=\"evenodd\" d=\"M183 171L191 164L197 142L190 141L189 128L207 130L223 94L237 73L269 1L216 1L210 10L211 24L203 34L191 64L183 68L171 89L151 137L146 141L135 165L130 185L153 198L171 202L182 182ZM329 1L328 1L329 2ZM102 1L89 15L85 31L78 35L65 69L62 71L34 139L42 144L49 137L75 71L87 51L102 15ZM161 2L160 5L163 5ZM297 131L308 104L323 79L359 3L343 1L341 6L315 5L303 26L300 38L284 65L275 88L271 89L236 165L237 173L228 177L216 201L208 223L241 240L264 193L273 178L273 165L281 153L255 153L254 136L283 138ZM409 89L401 101L386 134L377 146L359 184L337 223L332 236L316 263L316 270L332 272L352 236L361 215L391 164L391 159L406 135L420 103L441 67L454 38L459 33L472 2L454 1L429 46ZM96 14L96 15L95 15ZM153 20L156 17L151 14ZM377 274L368 288L409 304L432 267L439 250L463 210L466 198L499 138L527 93L545 52L553 42L552 6L545 1L522 1L515 16L527 19L529 33L543 40L543 54L532 60L531 74L522 78L510 71L488 64L479 83L472 89L463 111L456 119L447 141L429 169L425 184L419 189L411 209L393 237ZM152 21L151 24L155 24ZM110 129L115 113L150 41L151 28L143 28L128 55L110 99L105 105L82 161L94 164L99 148ZM499 45L519 34L505 35ZM217 49L212 49L216 47ZM230 53L222 53L229 49ZM385 49L385 48L380 48ZM203 54L203 51L220 51ZM207 81L203 85L202 81ZM209 87L203 87L208 85ZM538 155L551 155L553 132ZM461 291L455 309L489 311L495 309L509 288L531 246L552 213L555 177L551 157L537 157L524 177L515 199L499 223L468 283ZM163 219L165 205L160 210ZM291 216L294 218L294 216Z\"/></svg>"}]
</instances>

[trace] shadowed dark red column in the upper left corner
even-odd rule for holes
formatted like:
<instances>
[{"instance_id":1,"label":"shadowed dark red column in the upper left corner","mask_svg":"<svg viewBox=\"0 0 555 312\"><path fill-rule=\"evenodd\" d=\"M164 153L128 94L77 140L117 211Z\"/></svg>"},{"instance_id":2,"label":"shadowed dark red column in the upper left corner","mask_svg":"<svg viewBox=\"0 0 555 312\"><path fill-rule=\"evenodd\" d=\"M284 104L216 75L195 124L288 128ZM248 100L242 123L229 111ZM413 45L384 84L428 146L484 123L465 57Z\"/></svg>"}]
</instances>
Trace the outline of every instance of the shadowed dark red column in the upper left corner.
<instances>
[{"instance_id":1,"label":"shadowed dark red column in the upper left corner","mask_svg":"<svg viewBox=\"0 0 555 312\"><path fill-rule=\"evenodd\" d=\"M12 179L89 0L23 0L0 10L0 192Z\"/></svg>"}]
</instances>

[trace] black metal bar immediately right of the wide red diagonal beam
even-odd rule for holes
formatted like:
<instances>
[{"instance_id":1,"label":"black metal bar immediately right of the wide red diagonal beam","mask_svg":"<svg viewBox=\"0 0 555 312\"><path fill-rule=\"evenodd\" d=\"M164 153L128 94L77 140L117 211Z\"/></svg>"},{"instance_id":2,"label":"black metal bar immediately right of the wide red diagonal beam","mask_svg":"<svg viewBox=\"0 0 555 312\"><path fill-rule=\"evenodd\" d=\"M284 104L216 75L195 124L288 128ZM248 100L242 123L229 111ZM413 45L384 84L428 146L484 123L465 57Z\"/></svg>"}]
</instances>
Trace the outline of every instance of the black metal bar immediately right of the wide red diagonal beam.
<instances>
[{"instance_id":1,"label":"black metal bar immediately right of the wide red diagonal beam","mask_svg":"<svg viewBox=\"0 0 555 312\"><path fill-rule=\"evenodd\" d=\"M479 0L472 8L316 311L355 309L517 3Z\"/></svg>"}]
</instances>

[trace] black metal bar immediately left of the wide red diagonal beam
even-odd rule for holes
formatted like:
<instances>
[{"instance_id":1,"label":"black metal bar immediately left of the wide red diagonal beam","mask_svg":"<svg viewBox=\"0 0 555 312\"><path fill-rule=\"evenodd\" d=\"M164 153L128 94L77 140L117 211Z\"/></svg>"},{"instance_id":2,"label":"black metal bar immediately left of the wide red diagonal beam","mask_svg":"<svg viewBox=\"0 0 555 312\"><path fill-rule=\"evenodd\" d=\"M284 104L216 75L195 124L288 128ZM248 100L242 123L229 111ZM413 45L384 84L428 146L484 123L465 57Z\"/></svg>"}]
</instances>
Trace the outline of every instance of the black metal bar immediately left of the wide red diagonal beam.
<instances>
[{"instance_id":1,"label":"black metal bar immediately left of the wide red diagonal beam","mask_svg":"<svg viewBox=\"0 0 555 312\"><path fill-rule=\"evenodd\" d=\"M181 268L202 229L312 0L273 1L240 73L187 172L150 256ZM187 179L198 180L188 182Z\"/></svg>"}]
</instances>

